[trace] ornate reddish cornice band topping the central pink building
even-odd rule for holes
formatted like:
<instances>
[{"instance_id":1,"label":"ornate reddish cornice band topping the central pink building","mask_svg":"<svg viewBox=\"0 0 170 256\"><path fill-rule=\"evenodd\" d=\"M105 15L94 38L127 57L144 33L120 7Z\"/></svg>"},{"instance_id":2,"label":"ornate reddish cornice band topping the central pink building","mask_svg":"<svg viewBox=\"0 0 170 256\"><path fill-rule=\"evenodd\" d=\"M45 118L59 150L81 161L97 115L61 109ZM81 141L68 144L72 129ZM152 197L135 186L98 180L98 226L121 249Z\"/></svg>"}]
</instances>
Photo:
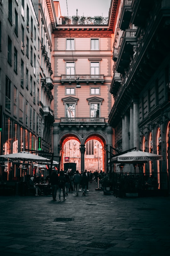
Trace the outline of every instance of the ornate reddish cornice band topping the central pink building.
<instances>
[{"instance_id":1,"label":"ornate reddish cornice band topping the central pink building","mask_svg":"<svg viewBox=\"0 0 170 256\"><path fill-rule=\"evenodd\" d=\"M83 29L83 28L58 28L54 31L54 37L111 37L109 29Z\"/></svg>"}]
</instances>

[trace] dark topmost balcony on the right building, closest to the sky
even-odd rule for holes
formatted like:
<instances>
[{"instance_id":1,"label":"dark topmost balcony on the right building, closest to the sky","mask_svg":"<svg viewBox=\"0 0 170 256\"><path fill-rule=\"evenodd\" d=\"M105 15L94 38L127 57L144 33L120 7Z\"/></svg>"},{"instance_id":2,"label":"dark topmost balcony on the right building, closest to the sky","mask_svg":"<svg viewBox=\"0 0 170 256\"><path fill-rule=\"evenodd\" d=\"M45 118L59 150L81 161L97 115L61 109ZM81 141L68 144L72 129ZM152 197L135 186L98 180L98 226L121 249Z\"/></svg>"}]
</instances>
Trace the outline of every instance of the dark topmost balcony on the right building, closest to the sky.
<instances>
[{"instance_id":1,"label":"dark topmost balcony on the right building, closest to the sky","mask_svg":"<svg viewBox=\"0 0 170 256\"><path fill-rule=\"evenodd\" d=\"M124 0L124 5L120 14L120 23L119 27L121 30L126 30L129 27L130 19L132 16L132 0Z\"/></svg>"}]
</instances>

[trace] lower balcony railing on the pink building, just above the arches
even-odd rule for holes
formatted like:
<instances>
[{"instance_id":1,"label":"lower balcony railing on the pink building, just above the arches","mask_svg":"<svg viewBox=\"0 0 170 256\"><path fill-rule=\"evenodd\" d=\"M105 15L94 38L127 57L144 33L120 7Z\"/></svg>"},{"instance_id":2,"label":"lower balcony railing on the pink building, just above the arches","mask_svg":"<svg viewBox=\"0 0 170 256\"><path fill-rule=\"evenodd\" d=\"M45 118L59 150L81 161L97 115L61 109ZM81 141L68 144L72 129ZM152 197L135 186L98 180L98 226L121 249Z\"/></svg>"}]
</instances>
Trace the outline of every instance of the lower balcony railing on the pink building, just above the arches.
<instances>
[{"instance_id":1,"label":"lower balcony railing on the pink building, just above the arches","mask_svg":"<svg viewBox=\"0 0 170 256\"><path fill-rule=\"evenodd\" d=\"M104 117L83 117L83 118L69 118L69 117L61 117L61 123L104 123Z\"/></svg>"}]
</instances>

